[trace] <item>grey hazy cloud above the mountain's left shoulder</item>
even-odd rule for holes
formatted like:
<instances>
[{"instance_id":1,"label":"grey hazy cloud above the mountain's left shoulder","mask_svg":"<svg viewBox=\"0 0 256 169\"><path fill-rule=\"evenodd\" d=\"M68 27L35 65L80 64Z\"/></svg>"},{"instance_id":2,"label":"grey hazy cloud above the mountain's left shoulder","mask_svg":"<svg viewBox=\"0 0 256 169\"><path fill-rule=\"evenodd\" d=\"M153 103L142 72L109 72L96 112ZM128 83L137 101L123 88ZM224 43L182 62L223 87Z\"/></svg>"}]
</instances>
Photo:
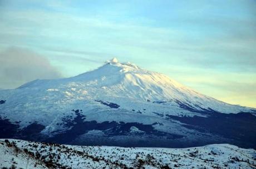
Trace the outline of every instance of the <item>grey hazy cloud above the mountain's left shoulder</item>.
<instances>
[{"instance_id":1,"label":"grey hazy cloud above the mountain's left shoulder","mask_svg":"<svg viewBox=\"0 0 256 169\"><path fill-rule=\"evenodd\" d=\"M46 58L31 50L12 47L0 53L0 88L17 88L35 79L60 77Z\"/></svg>"}]
</instances>

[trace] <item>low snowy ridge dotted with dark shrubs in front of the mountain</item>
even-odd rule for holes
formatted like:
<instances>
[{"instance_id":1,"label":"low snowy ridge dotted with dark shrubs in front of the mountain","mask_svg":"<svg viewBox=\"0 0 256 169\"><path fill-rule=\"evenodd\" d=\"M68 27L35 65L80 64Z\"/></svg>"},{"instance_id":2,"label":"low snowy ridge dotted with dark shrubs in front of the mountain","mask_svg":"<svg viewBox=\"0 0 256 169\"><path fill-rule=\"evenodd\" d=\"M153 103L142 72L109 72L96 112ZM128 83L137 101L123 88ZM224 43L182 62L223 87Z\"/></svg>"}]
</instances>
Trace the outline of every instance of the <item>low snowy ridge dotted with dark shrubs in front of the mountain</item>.
<instances>
[{"instance_id":1,"label":"low snowy ridge dotted with dark shrubs in front of the mountain","mask_svg":"<svg viewBox=\"0 0 256 169\"><path fill-rule=\"evenodd\" d=\"M192 148L70 146L0 140L0 167L256 168L256 151L220 144Z\"/></svg>"}]
</instances>

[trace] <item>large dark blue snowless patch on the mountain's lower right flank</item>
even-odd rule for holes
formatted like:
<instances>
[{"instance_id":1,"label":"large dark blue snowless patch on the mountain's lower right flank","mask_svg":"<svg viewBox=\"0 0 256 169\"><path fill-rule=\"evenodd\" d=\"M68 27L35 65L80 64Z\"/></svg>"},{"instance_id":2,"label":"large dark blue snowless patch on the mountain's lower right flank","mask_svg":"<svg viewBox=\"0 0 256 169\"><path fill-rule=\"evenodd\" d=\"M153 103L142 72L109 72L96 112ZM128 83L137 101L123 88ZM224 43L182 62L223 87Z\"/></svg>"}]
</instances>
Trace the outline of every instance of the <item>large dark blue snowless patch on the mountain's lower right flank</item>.
<instances>
[{"instance_id":1,"label":"large dark blue snowless patch on the mountain's lower right flank","mask_svg":"<svg viewBox=\"0 0 256 169\"><path fill-rule=\"evenodd\" d=\"M208 117L193 116L179 117L166 115L170 119L183 122L189 129L200 132L210 132L232 139L231 144L245 148L256 148L256 116L249 112L238 114L213 113Z\"/></svg>"}]
</instances>

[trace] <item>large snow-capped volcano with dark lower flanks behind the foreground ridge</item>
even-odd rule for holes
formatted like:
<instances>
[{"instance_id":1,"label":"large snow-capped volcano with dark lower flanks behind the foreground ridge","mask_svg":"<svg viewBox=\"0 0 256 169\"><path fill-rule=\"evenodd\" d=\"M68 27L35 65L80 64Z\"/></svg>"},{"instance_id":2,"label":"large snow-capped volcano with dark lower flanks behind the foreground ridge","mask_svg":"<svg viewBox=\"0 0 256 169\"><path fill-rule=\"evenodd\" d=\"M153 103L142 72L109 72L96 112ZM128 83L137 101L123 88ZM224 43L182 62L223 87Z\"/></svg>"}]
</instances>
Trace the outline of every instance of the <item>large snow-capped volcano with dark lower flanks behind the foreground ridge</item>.
<instances>
[{"instance_id":1,"label":"large snow-capped volcano with dark lower flanks behind the foreground ridge","mask_svg":"<svg viewBox=\"0 0 256 169\"><path fill-rule=\"evenodd\" d=\"M0 90L0 138L58 144L256 148L255 115L116 58L71 78Z\"/></svg>"}]
</instances>

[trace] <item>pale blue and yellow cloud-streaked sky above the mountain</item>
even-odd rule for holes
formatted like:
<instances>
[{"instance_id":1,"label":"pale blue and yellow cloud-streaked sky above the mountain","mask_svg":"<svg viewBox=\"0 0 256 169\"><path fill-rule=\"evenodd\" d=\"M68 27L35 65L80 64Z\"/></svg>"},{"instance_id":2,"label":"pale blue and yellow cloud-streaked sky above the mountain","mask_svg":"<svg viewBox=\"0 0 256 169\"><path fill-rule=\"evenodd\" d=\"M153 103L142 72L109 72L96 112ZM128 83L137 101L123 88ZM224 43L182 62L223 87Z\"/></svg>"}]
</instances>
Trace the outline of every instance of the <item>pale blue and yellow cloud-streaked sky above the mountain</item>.
<instances>
[{"instance_id":1,"label":"pale blue and yellow cloud-streaked sky above the mountain","mask_svg":"<svg viewBox=\"0 0 256 169\"><path fill-rule=\"evenodd\" d=\"M256 1L0 0L0 88L118 58L256 107Z\"/></svg>"}]
</instances>

